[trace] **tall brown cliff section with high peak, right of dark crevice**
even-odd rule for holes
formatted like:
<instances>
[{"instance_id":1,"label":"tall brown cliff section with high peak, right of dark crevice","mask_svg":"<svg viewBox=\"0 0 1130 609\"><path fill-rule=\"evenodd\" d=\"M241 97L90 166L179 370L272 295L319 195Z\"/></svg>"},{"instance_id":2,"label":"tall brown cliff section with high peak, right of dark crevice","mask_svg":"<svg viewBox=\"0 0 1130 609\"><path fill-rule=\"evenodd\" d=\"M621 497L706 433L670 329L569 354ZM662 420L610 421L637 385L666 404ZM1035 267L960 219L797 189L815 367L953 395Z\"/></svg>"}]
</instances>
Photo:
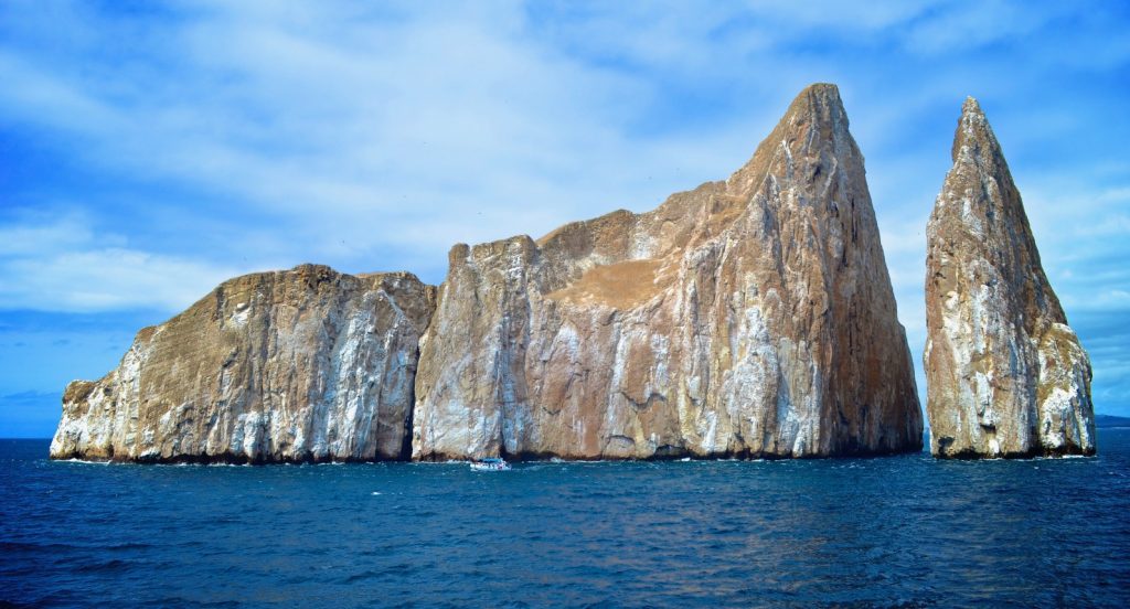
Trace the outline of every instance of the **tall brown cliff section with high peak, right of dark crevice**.
<instances>
[{"instance_id":1,"label":"tall brown cliff section with high peak, right of dark crevice","mask_svg":"<svg viewBox=\"0 0 1130 609\"><path fill-rule=\"evenodd\" d=\"M921 449L863 157L814 85L725 182L533 241L457 245L414 459Z\"/></svg>"}]
</instances>

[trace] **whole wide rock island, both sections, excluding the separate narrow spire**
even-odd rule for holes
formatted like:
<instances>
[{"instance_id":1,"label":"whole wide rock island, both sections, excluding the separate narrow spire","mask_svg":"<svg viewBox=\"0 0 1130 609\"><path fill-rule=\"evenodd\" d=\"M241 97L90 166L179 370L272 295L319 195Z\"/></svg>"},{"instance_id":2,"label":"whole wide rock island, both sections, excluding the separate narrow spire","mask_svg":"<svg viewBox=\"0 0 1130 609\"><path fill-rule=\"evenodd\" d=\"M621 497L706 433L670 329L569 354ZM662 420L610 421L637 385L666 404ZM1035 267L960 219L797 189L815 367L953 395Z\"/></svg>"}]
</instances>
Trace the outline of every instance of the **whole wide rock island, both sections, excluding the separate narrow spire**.
<instances>
[{"instance_id":1,"label":"whole wide rock island, both sections, excluding the separate narrow spire","mask_svg":"<svg viewBox=\"0 0 1130 609\"><path fill-rule=\"evenodd\" d=\"M51 455L776 458L921 435L863 158L814 85L729 180L457 245L438 295L314 266L227 281L71 383Z\"/></svg>"}]
</instances>

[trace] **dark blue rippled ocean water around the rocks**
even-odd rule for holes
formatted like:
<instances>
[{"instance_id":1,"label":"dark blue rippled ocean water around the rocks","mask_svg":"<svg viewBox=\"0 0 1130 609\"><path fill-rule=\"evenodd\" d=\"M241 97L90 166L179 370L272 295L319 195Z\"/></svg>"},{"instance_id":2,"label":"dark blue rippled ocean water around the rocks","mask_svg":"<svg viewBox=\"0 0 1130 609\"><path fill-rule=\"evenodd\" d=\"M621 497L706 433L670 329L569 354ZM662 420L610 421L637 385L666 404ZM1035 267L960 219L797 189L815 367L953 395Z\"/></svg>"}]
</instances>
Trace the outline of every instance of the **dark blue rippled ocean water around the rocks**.
<instances>
[{"instance_id":1,"label":"dark blue rippled ocean water around the rocks","mask_svg":"<svg viewBox=\"0 0 1130 609\"><path fill-rule=\"evenodd\" d=\"M17 606L1130 606L1130 429L1094 459L495 473L46 451L0 441Z\"/></svg>"}]
</instances>

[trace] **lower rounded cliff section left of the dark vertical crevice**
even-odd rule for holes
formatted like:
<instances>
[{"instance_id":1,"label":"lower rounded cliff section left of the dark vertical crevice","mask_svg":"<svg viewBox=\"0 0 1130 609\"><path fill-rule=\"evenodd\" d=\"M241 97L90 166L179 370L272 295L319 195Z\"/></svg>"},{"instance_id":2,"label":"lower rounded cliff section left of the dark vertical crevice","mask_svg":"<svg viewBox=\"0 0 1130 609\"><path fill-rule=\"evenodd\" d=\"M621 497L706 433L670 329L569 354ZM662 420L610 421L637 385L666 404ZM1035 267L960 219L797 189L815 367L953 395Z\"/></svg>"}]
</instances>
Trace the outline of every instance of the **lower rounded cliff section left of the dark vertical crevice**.
<instances>
[{"instance_id":1,"label":"lower rounded cliff section left of the dark vertical crevice","mask_svg":"<svg viewBox=\"0 0 1130 609\"><path fill-rule=\"evenodd\" d=\"M226 281L76 381L55 459L407 458L417 348L435 305L409 273L327 267Z\"/></svg>"}]
</instances>

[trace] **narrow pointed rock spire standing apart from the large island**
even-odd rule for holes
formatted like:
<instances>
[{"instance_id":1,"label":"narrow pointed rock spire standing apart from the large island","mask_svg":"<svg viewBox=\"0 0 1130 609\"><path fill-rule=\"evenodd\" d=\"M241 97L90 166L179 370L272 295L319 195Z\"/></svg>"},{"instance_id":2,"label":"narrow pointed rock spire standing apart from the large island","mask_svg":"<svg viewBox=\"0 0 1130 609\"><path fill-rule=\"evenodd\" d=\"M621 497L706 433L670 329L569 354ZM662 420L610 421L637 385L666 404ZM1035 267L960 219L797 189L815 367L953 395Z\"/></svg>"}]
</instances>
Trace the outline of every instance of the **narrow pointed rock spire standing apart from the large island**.
<instances>
[{"instance_id":1,"label":"narrow pointed rock spire standing apart from the large island","mask_svg":"<svg viewBox=\"0 0 1130 609\"><path fill-rule=\"evenodd\" d=\"M1090 362L972 97L953 156L927 228L930 450L945 458L1093 454Z\"/></svg>"}]
</instances>

